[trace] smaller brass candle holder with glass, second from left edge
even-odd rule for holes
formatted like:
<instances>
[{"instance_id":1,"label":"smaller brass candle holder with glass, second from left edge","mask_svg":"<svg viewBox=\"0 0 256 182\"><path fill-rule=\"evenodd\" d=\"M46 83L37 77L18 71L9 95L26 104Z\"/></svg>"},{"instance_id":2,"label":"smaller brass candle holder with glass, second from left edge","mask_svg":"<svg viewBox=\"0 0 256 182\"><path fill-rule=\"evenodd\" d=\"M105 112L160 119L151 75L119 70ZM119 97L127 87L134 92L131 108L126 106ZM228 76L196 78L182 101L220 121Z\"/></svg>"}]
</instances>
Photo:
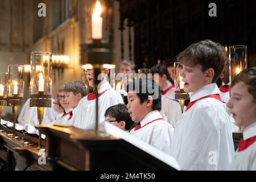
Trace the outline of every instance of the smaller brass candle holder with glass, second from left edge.
<instances>
[{"instance_id":1,"label":"smaller brass candle holder with glass, second from left edge","mask_svg":"<svg viewBox=\"0 0 256 182\"><path fill-rule=\"evenodd\" d=\"M24 67L23 65L9 65L7 84L7 106L13 107L13 137L15 137L16 119L18 107L23 105L24 90Z\"/></svg>"}]
</instances>

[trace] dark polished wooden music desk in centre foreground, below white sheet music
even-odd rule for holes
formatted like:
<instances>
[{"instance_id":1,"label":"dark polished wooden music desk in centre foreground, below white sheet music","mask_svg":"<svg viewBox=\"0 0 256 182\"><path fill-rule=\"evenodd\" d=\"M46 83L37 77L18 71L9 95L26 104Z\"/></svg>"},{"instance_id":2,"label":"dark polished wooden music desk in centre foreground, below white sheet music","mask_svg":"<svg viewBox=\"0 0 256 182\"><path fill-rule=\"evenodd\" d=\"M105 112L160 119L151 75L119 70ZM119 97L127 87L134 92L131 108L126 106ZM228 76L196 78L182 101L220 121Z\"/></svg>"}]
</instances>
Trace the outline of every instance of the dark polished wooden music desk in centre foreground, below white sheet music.
<instances>
[{"instance_id":1,"label":"dark polished wooden music desk in centre foreground, below white sheet music","mask_svg":"<svg viewBox=\"0 0 256 182\"><path fill-rule=\"evenodd\" d=\"M117 137L75 127L37 126L46 134L46 156L55 170L174 170Z\"/></svg>"}]
</instances>

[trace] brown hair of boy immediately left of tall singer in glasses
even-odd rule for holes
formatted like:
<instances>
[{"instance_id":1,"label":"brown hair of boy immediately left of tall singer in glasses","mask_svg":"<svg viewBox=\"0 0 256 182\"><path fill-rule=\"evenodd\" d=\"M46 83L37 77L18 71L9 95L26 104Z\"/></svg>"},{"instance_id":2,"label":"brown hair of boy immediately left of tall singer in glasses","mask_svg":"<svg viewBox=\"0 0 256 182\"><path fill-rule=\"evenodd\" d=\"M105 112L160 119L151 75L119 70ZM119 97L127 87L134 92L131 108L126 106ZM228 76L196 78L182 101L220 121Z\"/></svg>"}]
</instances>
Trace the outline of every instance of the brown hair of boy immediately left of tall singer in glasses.
<instances>
[{"instance_id":1,"label":"brown hair of boy immediately left of tall singer in glasses","mask_svg":"<svg viewBox=\"0 0 256 182\"><path fill-rule=\"evenodd\" d=\"M69 82L64 86L64 92L81 93L82 97L86 96L85 84L82 81Z\"/></svg>"}]
</instances>

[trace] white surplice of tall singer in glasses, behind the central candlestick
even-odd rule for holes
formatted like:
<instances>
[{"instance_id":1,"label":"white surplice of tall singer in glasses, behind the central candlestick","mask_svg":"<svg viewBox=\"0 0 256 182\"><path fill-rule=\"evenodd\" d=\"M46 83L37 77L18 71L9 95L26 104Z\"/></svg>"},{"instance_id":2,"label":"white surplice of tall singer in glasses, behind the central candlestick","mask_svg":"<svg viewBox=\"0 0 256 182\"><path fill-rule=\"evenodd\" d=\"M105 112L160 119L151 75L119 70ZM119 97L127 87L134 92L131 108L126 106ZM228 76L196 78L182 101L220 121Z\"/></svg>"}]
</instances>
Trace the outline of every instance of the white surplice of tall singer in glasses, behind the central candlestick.
<instances>
[{"instance_id":1,"label":"white surplice of tall singer in glasses, behind the central candlestick","mask_svg":"<svg viewBox=\"0 0 256 182\"><path fill-rule=\"evenodd\" d=\"M104 92L105 91L105 92ZM123 104L121 94L115 91L109 84L109 82L101 82L98 86L98 93L104 92L98 97L98 119L99 122L104 121L105 111L110 106ZM69 122L69 125L86 129L86 127L92 126L95 123L96 117L96 99L88 100L88 96L83 97L76 109L73 110L73 117Z\"/></svg>"}]
</instances>

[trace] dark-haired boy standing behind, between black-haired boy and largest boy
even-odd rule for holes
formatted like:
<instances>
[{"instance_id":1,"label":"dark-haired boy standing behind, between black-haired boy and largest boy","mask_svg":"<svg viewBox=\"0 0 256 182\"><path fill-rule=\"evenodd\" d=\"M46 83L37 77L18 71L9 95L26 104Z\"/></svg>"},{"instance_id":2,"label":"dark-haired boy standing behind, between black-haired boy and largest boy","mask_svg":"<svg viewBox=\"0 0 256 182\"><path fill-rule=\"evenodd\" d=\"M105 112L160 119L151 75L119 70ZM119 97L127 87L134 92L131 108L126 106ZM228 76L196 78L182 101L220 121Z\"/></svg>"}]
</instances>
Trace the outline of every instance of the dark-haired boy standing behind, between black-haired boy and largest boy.
<instances>
[{"instance_id":1,"label":"dark-haired boy standing behind, between black-haired boy and largest boy","mask_svg":"<svg viewBox=\"0 0 256 182\"><path fill-rule=\"evenodd\" d=\"M171 100L170 98L175 98L174 96L174 84L171 83L170 75L166 65L156 64L151 68L151 73L153 74L154 81L159 84L161 95L162 95L162 110L160 113L163 118L175 127L177 120L181 117L181 108L179 102ZM170 98L168 98L170 97Z\"/></svg>"}]
</instances>

